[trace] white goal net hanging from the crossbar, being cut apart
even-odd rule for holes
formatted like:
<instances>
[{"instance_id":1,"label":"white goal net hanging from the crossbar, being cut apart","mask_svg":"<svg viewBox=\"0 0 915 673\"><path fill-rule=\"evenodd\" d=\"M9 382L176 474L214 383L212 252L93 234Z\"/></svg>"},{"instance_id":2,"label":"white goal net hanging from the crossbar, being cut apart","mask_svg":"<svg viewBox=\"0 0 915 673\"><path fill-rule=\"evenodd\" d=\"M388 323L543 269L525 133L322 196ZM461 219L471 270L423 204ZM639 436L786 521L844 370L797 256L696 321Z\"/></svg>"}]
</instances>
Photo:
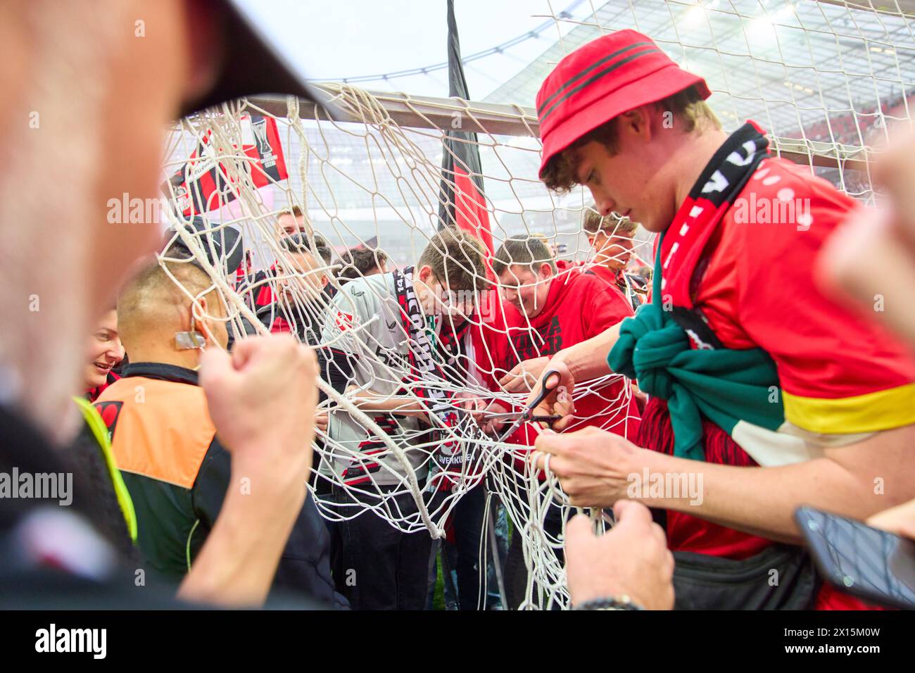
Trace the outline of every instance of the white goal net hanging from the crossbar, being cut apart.
<instances>
[{"instance_id":1,"label":"white goal net hanging from the crossbar, being cut apart","mask_svg":"<svg viewBox=\"0 0 915 673\"><path fill-rule=\"evenodd\" d=\"M842 3L791 5L791 11L778 6L660 0L592 6L587 20L576 20L573 30L505 88L533 103L522 93L528 86L525 77L535 92L568 51L609 30L634 27L655 38L684 67L706 77L714 92L710 103L726 130L753 118L770 130L782 156L808 165L861 201L874 201L869 167L877 141L885 136L889 121L911 118L912 21L898 5L895 11L884 12ZM573 20L554 18L557 25ZM755 35L759 31L768 36L764 44ZM552 475L544 480L528 468L524 458L529 445L501 442L498 433L484 433L467 414L459 414L454 425L443 423L435 413L427 414L424 424L398 416L392 433L382 429L377 413L355 404L361 387L380 391L382 402L401 403L404 410L430 410L430 391L449 400L461 396L483 406L496 401L506 409L517 408L526 393L508 392L493 382L524 359L554 353L554 342L522 315L514 336L501 332L504 352L490 352L498 340L483 340L484 353L468 354L463 347L447 351L442 335L457 333L462 321L470 325L464 332L468 334L484 326L491 331L494 324L507 320L504 305L484 291L469 316L445 310L429 327L435 370L407 372L404 349L415 353L420 344L411 340L406 328L400 330L400 358L393 356L390 343L372 336L372 327L389 314L379 311L365 320L335 323L341 296L349 297L337 277L340 260L350 249L366 248L386 257L389 271L415 264L440 225L442 141L451 129L477 134L493 246L498 248L513 236L542 237L562 263L551 282L566 282L571 274L606 263L609 256L625 269L620 275L622 291L638 303L650 285L651 237L639 230L629 243L614 239L621 247L598 258L583 230L590 203L587 193L574 190L558 197L545 190L536 175L536 118L519 104L491 104L501 103L499 92L490 96L490 104L480 104L372 94L351 86L326 85L325 90L354 121L333 121L320 109L312 112L304 103L300 108L292 98L252 99L183 120L170 134L164 170L167 196L184 204L195 197L206 202L198 209L202 233L170 215L168 224L177 229L172 239L181 241L205 268L222 299L219 311L204 315L199 310L199 318L224 320L235 339L275 329L277 319L283 319L286 329L318 350L339 349L355 356L358 385L338 390L327 381L319 382L325 397L320 407L330 418L328 432L319 431L316 442L315 471L325 488L316 487L315 493L323 516L340 520L371 509L374 516L405 532L427 530L441 537L458 500L482 484L504 505L513 534L522 536L529 570L529 599L523 606L567 607L565 571L557 552L570 508ZM263 155L261 168L255 158L264 143L269 145L264 120L275 124L285 157L283 179L265 177ZM276 148L270 149L275 157ZM197 158L188 162L192 156ZM208 200L198 179L210 170L221 180L221 189ZM183 181L172 179L176 174ZM189 193L182 192L185 187ZM286 232L280 218L294 206L304 213L294 226L310 252L307 261L283 243ZM285 221L295 223L295 218L287 215ZM626 238L612 222L609 226L608 233ZM214 241L221 241L228 228L242 234L246 256L241 272L210 261L218 258ZM318 254L321 239L332 250L329 262ZM174 255L163 255L162 260L182 263ZM382 284L361 280L351 268L347 274L357 277L350 282L372 295L375 305L396 304ZM486 277L476 280L478 288L490 287ZM325 282L327 288L321 289ZM259 303L264 297L270 300ZM351 313L356 312L353 307ZM632 395L630 383L619 375L577 384L576 403L587 398L589 408L597 411L576 417L569 430L596 425L625 436ZM352 440L334 431L344 417L361 426L364 438ZM366 459L365 441L371 443L371 461ZM422 476L430 468L433 475L436 471L432 456L444 446L465 458L453 487L435 493L422 489ZM367 472L356 484L344 479L341 464L367 462L377 462L377 471ZM330 483L339 492L360 497L345 505L332 502L323 495ZM404 495L413 504L407 511ZM559 514L548 525L551 507ZM592 516L602 525L601 513ZM484 539L487 534L484 529Z\"/></svg>"}]
</instances>

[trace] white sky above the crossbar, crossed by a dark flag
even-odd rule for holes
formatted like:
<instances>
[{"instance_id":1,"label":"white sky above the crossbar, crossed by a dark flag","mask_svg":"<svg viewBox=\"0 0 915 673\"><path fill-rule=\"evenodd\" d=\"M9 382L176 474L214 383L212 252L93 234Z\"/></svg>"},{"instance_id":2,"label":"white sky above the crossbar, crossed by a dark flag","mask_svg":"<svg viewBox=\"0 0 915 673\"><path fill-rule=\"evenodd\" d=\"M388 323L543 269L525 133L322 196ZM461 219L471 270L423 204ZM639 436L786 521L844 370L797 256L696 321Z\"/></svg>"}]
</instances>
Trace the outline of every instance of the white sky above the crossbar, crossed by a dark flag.
<instances>
[{"instance_id":1,"label":"white sky above the crossbar, crossed by a dark flag","mask_svg":"<svg viewBox=\"0 0 915 673\"><path fill-rule=\"evenodd\" d=\"M242 0L264 33L314 80L379 75L447 60L445 0ZM552 10L551 10L552 2ZM602 2L595 0L595 7ZM468 57L521 36L575 0L456 0L461 54ZM574 16L590 13L585 0ZM571 25L561 23L565 34ZM481 100L559 38L554 26L504 55L465 66L470 95ZM365 89L447 96L447 71L390 81L361 82Z\"/></svg>"}]
</instances>

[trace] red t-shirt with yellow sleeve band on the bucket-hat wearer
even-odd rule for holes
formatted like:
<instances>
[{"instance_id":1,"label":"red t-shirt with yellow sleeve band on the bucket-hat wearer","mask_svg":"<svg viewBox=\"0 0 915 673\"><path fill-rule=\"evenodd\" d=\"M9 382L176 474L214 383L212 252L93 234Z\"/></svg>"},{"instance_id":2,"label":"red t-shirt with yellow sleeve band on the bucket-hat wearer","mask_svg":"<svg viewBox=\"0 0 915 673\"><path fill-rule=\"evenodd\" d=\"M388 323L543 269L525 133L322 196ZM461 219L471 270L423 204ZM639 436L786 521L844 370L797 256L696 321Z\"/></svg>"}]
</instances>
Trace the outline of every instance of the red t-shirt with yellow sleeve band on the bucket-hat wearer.
<instances>
[{"instance_id":1,"label":"red t-shirt with yellow sleeve band on the bucket-hat wearer","mask_svg":"<svg viewBox=\"0 0 915 673\"><path fill-rule=\"evenodd\" d=\"M748 221L748 211L734 205L709 239L708 266L692 299L717 338L726 348L760 347L770 354L778 368L787 424L810 433L812 441L915 422L915 363L909 350L877 323L826 297L813 280L823 242L856 201L811 177L807 168L779 158L760 163L739 200L749 209L791 201L795 213L791 223L774 223L773 209L770 223L759 223L759 211ZM688 211L685 204L668 229L665 263L678 231L688 223ZM675 256L669 261L676 266ZM659 404L650 403L646 422ZM723 432L710 423L704 430L706 445ZM748 442L743 448L754 452ZM766 464L779 464L777 451L769 450ZM722 461L758 464L748 455ZM770 544L679 512L668 513L667 533L672 549L733 559ZM854 603L827 588L818 607Z\"/></svg>"}]
</instances>

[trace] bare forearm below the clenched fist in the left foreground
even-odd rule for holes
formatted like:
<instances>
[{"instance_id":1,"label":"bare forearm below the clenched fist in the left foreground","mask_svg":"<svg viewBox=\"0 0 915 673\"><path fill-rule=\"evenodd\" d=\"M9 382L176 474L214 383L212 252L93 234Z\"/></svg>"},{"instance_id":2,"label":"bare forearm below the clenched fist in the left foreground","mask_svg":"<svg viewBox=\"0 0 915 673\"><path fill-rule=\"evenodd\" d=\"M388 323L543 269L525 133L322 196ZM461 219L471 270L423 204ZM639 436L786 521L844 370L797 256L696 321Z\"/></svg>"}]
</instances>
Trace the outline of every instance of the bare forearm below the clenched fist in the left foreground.
<instances>
[{"instance_id":1,"label":"bare forearm below the clenched fist in the left foreground","mask_svg":"<svg viewBox=\"0 0 915 673\"><path fill-rule=\"evenodd\" d=\"M241 482L232 471L231 483ZM295 471L293 471L295 472ZM187 601L226 607L264 603L286 541L305 504L305 482L250 492L230 487L210 536L181 582Z\"/></svg>"}]
</instances>

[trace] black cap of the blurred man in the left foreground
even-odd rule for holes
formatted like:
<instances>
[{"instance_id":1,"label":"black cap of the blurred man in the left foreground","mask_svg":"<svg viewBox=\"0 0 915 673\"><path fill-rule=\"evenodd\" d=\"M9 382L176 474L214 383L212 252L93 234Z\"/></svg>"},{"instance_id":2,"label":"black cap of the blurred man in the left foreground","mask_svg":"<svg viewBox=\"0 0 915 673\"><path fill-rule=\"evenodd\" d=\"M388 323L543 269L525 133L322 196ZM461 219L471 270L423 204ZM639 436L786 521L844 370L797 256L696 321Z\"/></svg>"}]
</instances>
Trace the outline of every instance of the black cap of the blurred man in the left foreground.
<instances>
[{"instance_id":1,"label":"black cap of the blurred man in the left foreground","mask_svg":"<svg viewBox=\"0 0 915 673\"><path fill-rule=\"evenodd\" d=\"M304 72L290 65L284 49L264 33L250 0L219 0L217 5L213 14L222 22L219 75L208 92L182 105L181 116L242 96L280 93L321 104L335 119L346 118L326 102L327 96L315 92Z\"/></svg>"}]
</instances>

